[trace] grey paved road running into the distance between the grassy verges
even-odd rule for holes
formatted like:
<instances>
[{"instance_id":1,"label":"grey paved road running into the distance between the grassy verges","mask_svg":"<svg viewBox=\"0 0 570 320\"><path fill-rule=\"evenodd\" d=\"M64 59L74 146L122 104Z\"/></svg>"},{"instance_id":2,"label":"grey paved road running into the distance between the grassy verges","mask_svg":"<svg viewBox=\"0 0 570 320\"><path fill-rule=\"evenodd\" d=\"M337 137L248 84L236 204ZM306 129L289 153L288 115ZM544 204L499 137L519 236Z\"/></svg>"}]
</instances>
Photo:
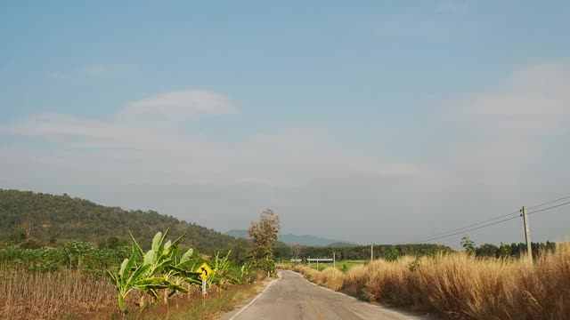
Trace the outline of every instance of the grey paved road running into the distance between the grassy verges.
<instances>
[{"instance_id":1,"label":"grey paved road running into the distance between the grassy verges","mask_svg":"<svg viewBox=\"0 0 570 320\"><path fill-rule=\"evenodd\" d=\"M374 306L345 294L310 283L292 271L280 271L260 296L244 308L226 314L224 320L352 320L425 319L392 309Z\"/></svg>"}]
</instances>

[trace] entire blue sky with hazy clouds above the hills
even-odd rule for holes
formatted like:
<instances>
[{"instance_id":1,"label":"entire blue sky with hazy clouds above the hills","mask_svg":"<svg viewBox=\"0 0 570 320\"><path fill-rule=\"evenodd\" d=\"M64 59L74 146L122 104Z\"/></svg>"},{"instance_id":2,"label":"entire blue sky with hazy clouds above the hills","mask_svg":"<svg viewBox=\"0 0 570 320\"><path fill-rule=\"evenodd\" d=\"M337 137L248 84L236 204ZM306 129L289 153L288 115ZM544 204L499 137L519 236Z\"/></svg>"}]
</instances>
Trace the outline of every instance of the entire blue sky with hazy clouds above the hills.
<instances>
[{"instance_id":1,"label":"entire blue sky with hazy clouds above the hills","mask_svg":"<svg viewBox=\"0 0 570 320\"><path fill-rule=\"evenodd\" d=\"M567 1L2 1L0 188L415 242L570 196L569 33Z\"/></svg>"}]
</instances>

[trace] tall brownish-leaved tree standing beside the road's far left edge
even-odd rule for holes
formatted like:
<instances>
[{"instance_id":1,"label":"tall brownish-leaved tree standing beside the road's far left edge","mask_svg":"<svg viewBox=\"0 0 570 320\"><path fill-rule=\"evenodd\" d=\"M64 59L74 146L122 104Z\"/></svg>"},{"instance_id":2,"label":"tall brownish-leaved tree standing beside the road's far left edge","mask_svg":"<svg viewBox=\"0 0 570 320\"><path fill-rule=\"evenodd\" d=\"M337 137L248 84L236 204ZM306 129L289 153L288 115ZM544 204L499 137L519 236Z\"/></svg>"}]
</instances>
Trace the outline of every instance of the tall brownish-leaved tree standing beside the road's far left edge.
<instances>
[{"instance_id":1,"label":"tall brownish-leaved tree standing beside the road's far left edge","mask_svg":"<svg viewBox=\"0 0 570 320\"><path fill-rule=\"evenodd\" d=\"M257 266L268 273L272 273L275 266L273 245L277 241L280 229L280 218L272 209L261 212L258 221L252 221L248 235L253 240L251 257L256 260Z\"/></svg>"}]
</instances>

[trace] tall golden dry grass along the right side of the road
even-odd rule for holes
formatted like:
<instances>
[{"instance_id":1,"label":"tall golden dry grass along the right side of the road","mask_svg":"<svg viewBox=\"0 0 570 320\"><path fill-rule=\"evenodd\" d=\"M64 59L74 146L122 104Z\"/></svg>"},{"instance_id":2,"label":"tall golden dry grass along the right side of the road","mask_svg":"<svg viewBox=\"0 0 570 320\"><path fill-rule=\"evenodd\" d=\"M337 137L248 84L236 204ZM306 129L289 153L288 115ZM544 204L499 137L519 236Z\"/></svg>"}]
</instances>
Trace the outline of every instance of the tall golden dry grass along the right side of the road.
<instances>
[{"instance_id":1,"label":"tall golden dry grass along the right side of the road","mask_svg":"<svg viewBox=\"0 0 570 320\"><path fill-rule=\"evenodd\" d=\"M467 254L375 260L342 274L296 267L330 289L451 319L570 319L570 244L534 265Z\"/></svg>"}]
</instances>

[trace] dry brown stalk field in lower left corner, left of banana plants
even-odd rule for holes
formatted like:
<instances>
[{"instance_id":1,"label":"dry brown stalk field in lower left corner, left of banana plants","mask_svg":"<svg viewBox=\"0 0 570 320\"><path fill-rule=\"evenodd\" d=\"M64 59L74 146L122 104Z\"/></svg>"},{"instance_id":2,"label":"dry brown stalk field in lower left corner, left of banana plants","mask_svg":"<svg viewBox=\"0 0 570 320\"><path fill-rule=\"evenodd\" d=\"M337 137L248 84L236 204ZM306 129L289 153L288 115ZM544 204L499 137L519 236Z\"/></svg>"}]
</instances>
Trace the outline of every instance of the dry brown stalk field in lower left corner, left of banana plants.
<instances>
[{"instance_id":1,"label":"dry brown stalk field in lower left corner, left of banana plants","mask_svg":"<svg viewBox=\"0 0 570 320\"><path fill-rule=\"evenodd\" d=\"M0 267L0 318L52 319L95 315L116 308L117 290L107 278L77 271L48 273Z\"/></svg>"}]
</instances>

